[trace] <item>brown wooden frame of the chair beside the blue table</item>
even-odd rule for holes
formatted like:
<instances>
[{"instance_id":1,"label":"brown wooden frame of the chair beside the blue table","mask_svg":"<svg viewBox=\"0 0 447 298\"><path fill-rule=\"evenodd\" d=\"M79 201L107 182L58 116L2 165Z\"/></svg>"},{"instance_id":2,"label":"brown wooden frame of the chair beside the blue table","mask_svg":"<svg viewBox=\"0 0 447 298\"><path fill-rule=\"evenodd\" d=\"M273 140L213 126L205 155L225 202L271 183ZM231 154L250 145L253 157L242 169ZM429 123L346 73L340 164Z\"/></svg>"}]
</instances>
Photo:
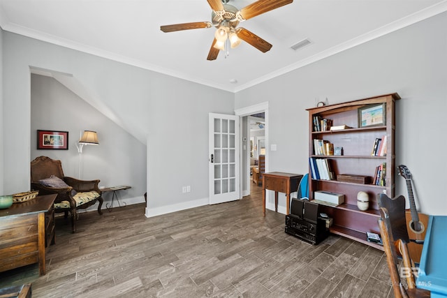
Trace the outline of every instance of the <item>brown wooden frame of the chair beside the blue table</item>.
<instances>
[{"instance_id":1,"label":"brown wooden frame of the chair beside the blue table","mask_svg":"<svg viewBox=\"0 0 447 298\"><path fill-rule=\"evenodd\" d=\"M406 242L402 239L394 239L390 216L388 210L384 207L379 208L381 218L379 218L379 228L383 241L383 248L386 254L386 262L390 271L391 283L393 283L393 292L396 298L400 297L430 297L430 291L416 288L414 281L413 269L414 262L410 259ZM401 272L405 283L401 282L397 262L397 250L399 248L402 255L402 267L405 269ZM406 287L404 286L406 284Z\"/></svg>"}]
</instances>

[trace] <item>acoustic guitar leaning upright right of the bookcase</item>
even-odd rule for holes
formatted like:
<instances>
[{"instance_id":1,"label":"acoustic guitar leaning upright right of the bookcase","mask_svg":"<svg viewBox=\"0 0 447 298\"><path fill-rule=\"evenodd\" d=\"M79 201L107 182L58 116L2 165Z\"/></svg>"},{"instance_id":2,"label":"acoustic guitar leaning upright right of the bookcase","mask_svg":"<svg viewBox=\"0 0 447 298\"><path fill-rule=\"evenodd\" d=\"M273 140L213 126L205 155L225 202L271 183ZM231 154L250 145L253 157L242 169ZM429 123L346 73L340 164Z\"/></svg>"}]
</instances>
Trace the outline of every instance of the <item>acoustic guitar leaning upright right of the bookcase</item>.
<instances>
[{"instance_id":1,"label":"acoustic guitar leaning upright right of the bookcase","mask_svg":"<svg viewBox=\"0 0 447 298\"><path fill-rule=\"evenodd\" d=\"M425 229L428 225L428 216L426 214L418 214L416 204L413 197L413 188L411 187L411 173L405 165L397 166L397 173L405 178L406 189L409 196L410 209L405 211L406 230L409 236L409 253L414 262L420 262L420 254L425 239Z\"/></svg>"}]
</instances>

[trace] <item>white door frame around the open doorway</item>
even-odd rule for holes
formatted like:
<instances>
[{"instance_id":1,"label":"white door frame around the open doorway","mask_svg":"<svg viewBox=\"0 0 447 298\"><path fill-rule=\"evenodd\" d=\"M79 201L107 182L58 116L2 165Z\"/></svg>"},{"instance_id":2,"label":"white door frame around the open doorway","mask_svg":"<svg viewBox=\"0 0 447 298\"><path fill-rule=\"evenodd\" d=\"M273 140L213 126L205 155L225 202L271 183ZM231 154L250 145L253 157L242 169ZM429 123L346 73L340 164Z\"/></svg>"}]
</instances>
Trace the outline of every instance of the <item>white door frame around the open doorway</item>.
<instances>
[{"instance_id":1,"label":"white door frame around the open doorway","mask_svg":"<svg viewBox=\"0 0 447 298\"><path fill-rule=\"evenodd\" d=\"M239 116L239 123L242 124L242 117L246 117L246 116L250 116L251 114L256 114L259 112L264 112L265 113L265 172L268 172L268 168L269 168L269 156L270 156L270 148L269 148L269 123L268 123L268 101L265 101L263 103L258 103L256 105L250 105L248 107L241 107L240 109L236 109L235 110L235 115ZM247 140L250 140L250 128L247 125ZM240 125L240 136L244 135L243 134L243 128L242 125ZM245 172L243 172L243 166L242 166L242 161L244 161L244 140L242 140L242 137L239 138L239 142L240 142L240 195L242 197L249 195L250 194L250 151L248 150L248 146L249 146L249 142L247 142L247 144L245 144L245 147L247 148L245 150L245 155L246 155L246 162L244 163L244 165L246 165L246 170ZM246 185L244 184L244 179L242 179L242 177L245 177L245 181L247 181ZM245 188L244 188L245 186Z\"/></svg>"}]
</instances>

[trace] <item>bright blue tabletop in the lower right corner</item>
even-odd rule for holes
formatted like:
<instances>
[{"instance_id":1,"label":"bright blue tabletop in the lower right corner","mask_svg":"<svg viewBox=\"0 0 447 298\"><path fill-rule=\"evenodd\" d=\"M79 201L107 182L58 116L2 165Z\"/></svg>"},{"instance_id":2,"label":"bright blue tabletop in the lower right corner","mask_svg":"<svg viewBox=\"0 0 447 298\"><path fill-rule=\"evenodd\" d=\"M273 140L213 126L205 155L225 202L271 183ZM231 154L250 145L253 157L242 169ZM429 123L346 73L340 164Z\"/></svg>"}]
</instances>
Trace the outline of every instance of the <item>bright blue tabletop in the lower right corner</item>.
<instances>
[{"instance_id":1,"label":"bright blue tabletop in the lower right corner","mask_svg":"<svg viewBox=\"0 0 447 298\"><path fill-rule=\"evenodd\" d=\"M447 216L430 216L425 234L416 287L431 297L447 297Z\"/></svg>"}]
</instances>

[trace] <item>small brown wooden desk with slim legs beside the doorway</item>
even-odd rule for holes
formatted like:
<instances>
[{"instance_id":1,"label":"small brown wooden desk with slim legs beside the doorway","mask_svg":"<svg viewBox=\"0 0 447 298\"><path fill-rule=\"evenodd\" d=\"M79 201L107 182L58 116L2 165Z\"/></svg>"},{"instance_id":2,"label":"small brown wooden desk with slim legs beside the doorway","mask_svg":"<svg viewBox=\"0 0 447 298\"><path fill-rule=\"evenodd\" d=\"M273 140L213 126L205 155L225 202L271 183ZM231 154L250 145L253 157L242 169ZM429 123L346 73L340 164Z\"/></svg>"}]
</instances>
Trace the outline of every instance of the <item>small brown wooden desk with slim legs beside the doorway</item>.
<instances>
[{"instance_id":1,"label":"small brown wooden desk with slim legs beside the doorway","mask_svg":"<svg viewBox=\"0 0 447 298\"><path fill-rule=\"evenodd\" d=\"M302 174L270 172L263 174L263 203L265 216L265 190L274 191L274 211L278 211L278 192L286 194L286 215L289 214L291 193L298 191Z\"/></svg>"}]
</instances>

